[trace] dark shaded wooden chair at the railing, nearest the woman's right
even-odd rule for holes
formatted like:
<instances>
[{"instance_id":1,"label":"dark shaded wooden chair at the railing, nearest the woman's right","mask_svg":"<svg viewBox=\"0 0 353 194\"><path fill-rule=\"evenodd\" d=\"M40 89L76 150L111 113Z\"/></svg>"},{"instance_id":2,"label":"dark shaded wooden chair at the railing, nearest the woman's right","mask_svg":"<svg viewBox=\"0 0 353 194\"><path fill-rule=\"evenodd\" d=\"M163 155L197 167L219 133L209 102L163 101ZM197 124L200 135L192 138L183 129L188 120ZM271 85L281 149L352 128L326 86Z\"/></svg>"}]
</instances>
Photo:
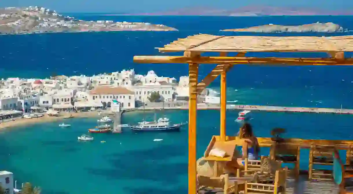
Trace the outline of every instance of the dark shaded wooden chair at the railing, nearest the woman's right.
<instances>
[{"instance_id":1,"label":"dark shaded wooden chair at the railing, nearest the woman's right","mask_svg":"<svg viewBox=\"0 0 353 194\"><path fill-rule=\"evenodd\" d=\"M290 174L299 178L300 171L300 146L297 144L281 144L274 142L270 148L272 159L279 160L281 163L292 163L294 168L289 170Z\"/></svg>"}]
</instances>

